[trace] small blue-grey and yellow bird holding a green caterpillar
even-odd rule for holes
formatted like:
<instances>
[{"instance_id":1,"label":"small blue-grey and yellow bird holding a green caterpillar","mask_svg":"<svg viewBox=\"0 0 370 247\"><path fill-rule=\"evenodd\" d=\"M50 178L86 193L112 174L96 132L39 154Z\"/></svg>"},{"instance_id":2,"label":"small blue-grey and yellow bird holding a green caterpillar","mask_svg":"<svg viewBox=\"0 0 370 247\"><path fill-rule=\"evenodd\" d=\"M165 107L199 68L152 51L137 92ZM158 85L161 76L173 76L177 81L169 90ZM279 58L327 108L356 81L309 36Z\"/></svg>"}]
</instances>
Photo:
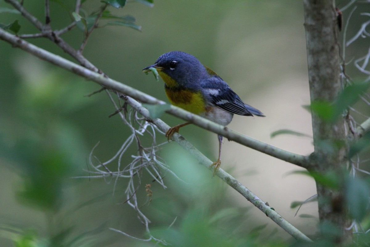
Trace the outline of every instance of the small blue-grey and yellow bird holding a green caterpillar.
<instances>
[{"instance_id":1,"label":"small blue-grey and yellow bird holding a green caterpillar","mask_svg":"<svg viewBox=\"0 0 370 247\"><path fill-rule=\"evenodd\" d=\"M196 57L182 52L171 51L160 56L155 64L143 69L148 72L154 68L162 77L165 91L171 104L191 113L205 117L215 123L228 125L234 114L242 116L265 117L263 113L245 104L240 97L213 70L203 66ZM183 123L169 128L168 140ZM221 165L222 136L218 135L219 153L213 174Z\"/></svg>"}]
</instances>

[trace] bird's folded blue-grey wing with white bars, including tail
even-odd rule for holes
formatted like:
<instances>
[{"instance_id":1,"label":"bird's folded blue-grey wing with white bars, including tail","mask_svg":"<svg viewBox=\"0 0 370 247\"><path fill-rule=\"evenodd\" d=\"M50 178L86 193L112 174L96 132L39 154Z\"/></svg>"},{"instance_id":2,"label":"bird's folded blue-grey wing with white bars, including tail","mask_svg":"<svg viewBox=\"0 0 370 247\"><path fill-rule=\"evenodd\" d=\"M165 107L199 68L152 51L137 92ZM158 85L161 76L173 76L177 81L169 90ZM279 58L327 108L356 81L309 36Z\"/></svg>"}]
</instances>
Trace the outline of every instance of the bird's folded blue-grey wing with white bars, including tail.
<instances>
[{"instance_id":1,"label":"bird's folded blue-grey wing with white bars, including tail","mask_svg":"<svg viewBox=\"0 0 370 247\"><path fill-rule=\"evenodd\" d=\"M223 110L242 116L253 116L253 114L265 116L258 109L245 104L219 76L213 76L209 80L203 81L202 89L208 100Z\"/></svg>"}]
</instances>

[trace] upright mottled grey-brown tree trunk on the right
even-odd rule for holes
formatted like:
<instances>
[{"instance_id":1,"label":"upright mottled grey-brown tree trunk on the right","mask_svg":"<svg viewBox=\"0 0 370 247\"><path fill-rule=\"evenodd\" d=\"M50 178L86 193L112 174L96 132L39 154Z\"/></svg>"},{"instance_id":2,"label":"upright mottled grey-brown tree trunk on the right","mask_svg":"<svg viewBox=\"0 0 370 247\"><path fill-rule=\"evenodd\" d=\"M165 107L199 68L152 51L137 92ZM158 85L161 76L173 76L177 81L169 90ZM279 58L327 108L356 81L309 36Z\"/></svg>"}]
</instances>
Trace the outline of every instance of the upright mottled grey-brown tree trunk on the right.
<instances>
[{"instance_id":1,"label":"upright mottled grey-brown tree trunk on the right","mask_svg":"<svg viewBox=\"0 0 370 247\"><path fill-rule=\"evenodd\" d=\"M338 27L333 0L304 0L307 63L311 103L332 103L342 91ZM314 153L313 170L322 174L334 172L343 176L346 167L346 134L344 120L324 121L312 113ZM352 231L347 210L343 207L341 190L317 183L320 224L329 223L339 229L335 241L344 244L351 240Z\"/></svg>"}]
</instances>

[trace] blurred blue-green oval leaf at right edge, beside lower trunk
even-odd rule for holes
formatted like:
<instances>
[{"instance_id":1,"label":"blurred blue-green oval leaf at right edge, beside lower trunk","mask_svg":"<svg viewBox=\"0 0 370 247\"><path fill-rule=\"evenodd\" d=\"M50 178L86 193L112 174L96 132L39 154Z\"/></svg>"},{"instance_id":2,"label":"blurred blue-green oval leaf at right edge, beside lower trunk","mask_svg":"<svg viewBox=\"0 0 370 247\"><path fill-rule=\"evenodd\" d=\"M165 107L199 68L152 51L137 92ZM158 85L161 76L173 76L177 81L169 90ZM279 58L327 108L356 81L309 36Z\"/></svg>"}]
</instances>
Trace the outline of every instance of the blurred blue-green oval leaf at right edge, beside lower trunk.
<instances>
[{"instance_id":1,"label":"blurred blue-green oval leaf at right edge, beside lower trunk","mask_svg":"<svg viewBox=\"0 0 370 247\"><path fill-rule=\"evenodd\" d=\"M345 198L349 215L358 221L369 211L369 184L360 178L350 178L346 183Z\"/></svg>"}]
</instances>

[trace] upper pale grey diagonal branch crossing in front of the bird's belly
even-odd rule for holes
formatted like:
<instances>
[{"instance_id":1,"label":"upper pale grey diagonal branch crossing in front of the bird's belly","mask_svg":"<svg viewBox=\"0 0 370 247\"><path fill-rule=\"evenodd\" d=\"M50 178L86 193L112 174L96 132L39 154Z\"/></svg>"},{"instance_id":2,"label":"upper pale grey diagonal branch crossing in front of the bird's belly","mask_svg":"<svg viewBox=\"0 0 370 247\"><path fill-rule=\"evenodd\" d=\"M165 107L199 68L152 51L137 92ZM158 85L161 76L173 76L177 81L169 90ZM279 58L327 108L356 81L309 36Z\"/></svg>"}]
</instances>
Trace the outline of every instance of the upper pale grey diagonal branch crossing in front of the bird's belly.
<instances>
[{"instance_id":1,"label":"upper pale grey diagonal branch crossing in front of the bird's belly","mask_svg":"<svg viewBox=\"0 0 370 247\"><path fill-rule=\"evenodd\" d=\"M21 49L39 57L40 59L49 61L50 63L53 63L59 67L69 70L75 74L78 74L80 76L93 80L111 90L117 91L119 93L123 93L125 95L128 95L144 103L165 104L164 101L158 100L148 94L142 93L141 91L138 91L132 87L126 86L125 84L122 84L118 81L106 78L102 76L101 74L94 73L91 70L88 70L82 66L79 66L78 64L75 64L60 56L52 54L39 47L36 47L33 44L30 44L27 41L24 41L20 39L19 37L12 35L10 33L7 33L6 31L1 30L1 29L0 29L0 38L13 44L13 46L20 47ZM206 130L210 130L213 133L220 134L228 138L229 140L236 141L237 143L242 144L243 146L250 147L262 153L279 158L280 160L287 161L289 163L295 164L303 168L310 168L310 161L309 161L309 157L307 156L292 153L292 152L283 150L282 148L278 148L270 144L264 143L262 141L253 139L251 137L242 135L220 124L216 124L210 120L204 119L203 117L189 113L188 111L185 111L179 107L171 106L171 108L167 110L166 112L176 117L179 117L181 119L184 119L186 121L189 121L191 123L194 123L195 125L205 128ZM175 133L174 136L178 137L179 134Z\"/></svg>"}]
</instances>

